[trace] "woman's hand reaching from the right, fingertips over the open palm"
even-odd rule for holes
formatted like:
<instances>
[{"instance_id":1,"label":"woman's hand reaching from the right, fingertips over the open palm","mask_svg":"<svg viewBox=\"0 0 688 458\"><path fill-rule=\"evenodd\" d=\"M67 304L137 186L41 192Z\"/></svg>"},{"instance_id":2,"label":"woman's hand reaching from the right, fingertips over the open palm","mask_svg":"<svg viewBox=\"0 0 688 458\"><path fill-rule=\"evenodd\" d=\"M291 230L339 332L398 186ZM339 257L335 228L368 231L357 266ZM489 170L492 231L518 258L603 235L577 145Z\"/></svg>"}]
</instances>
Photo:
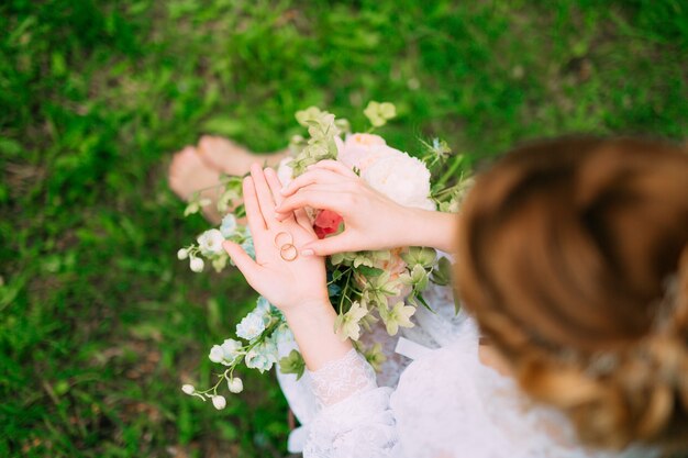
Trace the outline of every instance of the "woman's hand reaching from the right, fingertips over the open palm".
<instances>
[{"instance_id":1,"label":"woman's hand reaching from the right, fingertips over the open palm","mask_svg":"<svg viewBox=\"0 0 688 458\"><path fill-rule=\"evenodd\" d=\"M401 246L453 250L456 215L399 205L336 160L310 166L281 194L285 199L276 209L277 220L304 206L330 210L344 219L343 233L306 243L300 247L304 256Z\"/></svg>"}]
</instances>

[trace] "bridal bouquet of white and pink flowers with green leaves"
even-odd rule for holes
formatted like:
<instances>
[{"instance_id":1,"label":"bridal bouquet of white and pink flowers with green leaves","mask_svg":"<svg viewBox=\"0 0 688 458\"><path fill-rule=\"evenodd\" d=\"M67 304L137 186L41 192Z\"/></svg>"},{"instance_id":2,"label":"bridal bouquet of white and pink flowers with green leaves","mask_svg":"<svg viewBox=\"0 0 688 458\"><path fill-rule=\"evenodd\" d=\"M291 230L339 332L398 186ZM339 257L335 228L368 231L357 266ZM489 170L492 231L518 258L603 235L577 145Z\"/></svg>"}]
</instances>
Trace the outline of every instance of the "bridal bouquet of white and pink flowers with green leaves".
<instances>
[{"instance_id":1,"label":"bridal bouquet of white and pink flowers with green leaves","mask_svg":"<svg viewBox=\"0 0 688 458\"><path fill-rule=\"evenodd\" d=\"M396 116L391 103L370 102L364 111L371 127L366 133L351 133L346 120L318 108L296 113L308 136L291 138L291 157L281 161L278 176L284 186L303 174L310 165L325 159L339 160L349 167L369 187L406 206L443 212L457 212L465 190L470 183L468 167L462 155L452 154L445 142L422 142L419 157L387 145L371 132ZM178 252L179 259L188 259L192 271L201 272L206 262L222 271L229 256L222 248L225 239L235 242L255 257L251 232L240 224L245 212L241 201L242 177L223 177L218 210L228 213L220 227L203 232L197 243ZM195 196L185 215L197 213L211 202ZM235 203L238 203L235 205ZM340 215L329 210L309 209L315 234L320 238L344 230ZM430 282L450 283L450 261L434 249L401 247L380 252L342 253L326 260L328 290L337 312L336 331L351 338L375 368L385 360L381 345L364 348L362 333L382 321L387 333L396 335L399 327L412 327L411 316L418 306L426 306L423 291ZM207 390L185 384L182 391L203 401L211 400L223 409L226 400L218 393L223 381L232 393L243 390L243 382L234 376L240 365L260 372L276 364L284 373L300 378L304 364L298 349L278 357L280 345L291 345L293 336L281 312L259 297L256 308L236 325L236 338L228 338L210 349L211 361L222 365L217 383Z\"/></svg>"}]
</instances>

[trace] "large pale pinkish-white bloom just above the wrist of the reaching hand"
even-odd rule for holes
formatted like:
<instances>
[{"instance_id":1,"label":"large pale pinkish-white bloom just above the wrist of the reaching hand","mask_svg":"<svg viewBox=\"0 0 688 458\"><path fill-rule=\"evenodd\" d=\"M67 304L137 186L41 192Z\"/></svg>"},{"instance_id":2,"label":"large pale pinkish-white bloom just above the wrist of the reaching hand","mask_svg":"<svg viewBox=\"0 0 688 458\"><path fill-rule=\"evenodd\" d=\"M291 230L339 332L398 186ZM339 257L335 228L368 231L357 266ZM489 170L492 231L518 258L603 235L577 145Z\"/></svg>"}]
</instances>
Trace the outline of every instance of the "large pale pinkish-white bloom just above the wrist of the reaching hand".
<instances>
[{"instance_id":1,"label":"large pale pinkish-white bloom just above the wrist of the reaching hand","mask_svg":"<svg viewBox=\"0 0 688 458\"><path fill-rule=\"evenodd\" d=\"M430 171L415 157L403 153L382 157L364 170L362 178L401 205L436 210L430 199Z\"/></svg>"}]
</instances>

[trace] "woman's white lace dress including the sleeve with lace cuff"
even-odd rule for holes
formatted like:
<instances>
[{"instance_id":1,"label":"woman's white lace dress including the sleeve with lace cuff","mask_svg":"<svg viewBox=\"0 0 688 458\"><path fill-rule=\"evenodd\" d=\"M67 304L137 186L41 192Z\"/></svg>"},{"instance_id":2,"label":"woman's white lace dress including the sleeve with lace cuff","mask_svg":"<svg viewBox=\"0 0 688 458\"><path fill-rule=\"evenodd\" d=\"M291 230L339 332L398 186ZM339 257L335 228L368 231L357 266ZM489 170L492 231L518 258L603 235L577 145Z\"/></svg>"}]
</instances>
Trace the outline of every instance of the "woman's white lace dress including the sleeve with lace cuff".
<instances>
[{"instance_id":1,"label":"woman's white lace dress including the sleeve with lace cuff","mask_svg":"<svg viewBox=\"0 0 688 458\"><path fill-rule=\"evenodd\" d=\"M393 338L384 329L371 336L382 339L388 356L377 377L355 350L299 381L278 373L303 425L292 432L290 451L302 449L304 458L658 456L641 447L604 453L578 445L563 415L529 401L511 379L480 362L475 323L454 314L448 289L433 288L425 298L435 313L419 308L415 327Z\"/></svg>"}]
</instances>

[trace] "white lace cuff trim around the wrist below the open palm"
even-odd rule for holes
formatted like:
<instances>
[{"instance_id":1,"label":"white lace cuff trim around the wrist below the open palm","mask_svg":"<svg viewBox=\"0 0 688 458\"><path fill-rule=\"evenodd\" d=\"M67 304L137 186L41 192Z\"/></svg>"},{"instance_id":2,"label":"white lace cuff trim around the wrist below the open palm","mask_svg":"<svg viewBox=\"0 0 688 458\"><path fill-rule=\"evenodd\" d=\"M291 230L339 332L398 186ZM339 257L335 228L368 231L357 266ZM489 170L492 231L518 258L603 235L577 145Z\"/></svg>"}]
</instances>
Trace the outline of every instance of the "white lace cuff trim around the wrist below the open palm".
<instances>
[{"instance_id":1,"label":"white lace cuff trim around the wrist below the open palm","mask_svg":"<svg viewBox=\"0 0 688 458\"><path fill-rule=\"evenodd\" d=\"M321 405L335 404L353 394L377 388L375 371L355 349L330 361L314 372L309 371L311 387Z\"/></svg>"}]
</instances>

